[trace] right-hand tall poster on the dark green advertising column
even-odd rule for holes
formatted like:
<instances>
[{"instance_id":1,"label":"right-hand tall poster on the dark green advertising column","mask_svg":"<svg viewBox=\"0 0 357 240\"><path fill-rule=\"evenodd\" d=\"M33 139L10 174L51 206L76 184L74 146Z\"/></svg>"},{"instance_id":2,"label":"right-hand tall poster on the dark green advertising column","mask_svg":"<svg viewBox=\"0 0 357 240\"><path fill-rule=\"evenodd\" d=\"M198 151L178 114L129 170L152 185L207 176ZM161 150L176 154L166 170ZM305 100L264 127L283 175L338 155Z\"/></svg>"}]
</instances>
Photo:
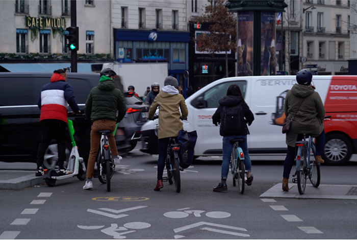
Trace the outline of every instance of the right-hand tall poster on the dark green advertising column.
<instances>
[{"instance_id":1,"label":"right-hand tall poster on the dark green advertising column","mask_svg":"<svg viewBox=\"0 0 357 240\"><path fill-rule=\"evenodd\" d=\"M275 12L261 12L261 75L276 75Z\"/></svg>"}]
</instances>

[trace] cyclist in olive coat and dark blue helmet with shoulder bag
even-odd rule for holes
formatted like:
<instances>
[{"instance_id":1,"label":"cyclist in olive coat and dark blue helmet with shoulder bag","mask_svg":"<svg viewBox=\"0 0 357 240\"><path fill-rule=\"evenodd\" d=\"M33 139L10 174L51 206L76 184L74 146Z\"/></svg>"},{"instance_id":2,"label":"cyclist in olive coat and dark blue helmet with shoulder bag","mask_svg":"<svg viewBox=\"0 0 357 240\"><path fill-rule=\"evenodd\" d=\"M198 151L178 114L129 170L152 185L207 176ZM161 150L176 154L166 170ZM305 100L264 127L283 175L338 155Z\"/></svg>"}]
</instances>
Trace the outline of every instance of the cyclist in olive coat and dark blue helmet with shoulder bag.
<instances>
[{"instance_id":1,"label":"cyclist in olive coat and dark blue helmet with shoulder bag","mask_svg":"<svg viewBox=\"0 0 357 240\"><path fill-rule=\"evenodd\" d=\"M325 108L319 93L311 85L312 74L308 69L300 70L296 75L296 81L298 84L295 84L288 91L285 98L286 119L291 120L292 117L294 119L291 121L289 132L286 134L288 153L284 161L284 191L289 190L289 175L295 160L295 142L301 140L301 137L298 139L299 134L310 134L312 137L316 137L315 161L317 164L324 162L321 154L325 144L325 130L323 129Z\"/></svg>"}]
</instances>

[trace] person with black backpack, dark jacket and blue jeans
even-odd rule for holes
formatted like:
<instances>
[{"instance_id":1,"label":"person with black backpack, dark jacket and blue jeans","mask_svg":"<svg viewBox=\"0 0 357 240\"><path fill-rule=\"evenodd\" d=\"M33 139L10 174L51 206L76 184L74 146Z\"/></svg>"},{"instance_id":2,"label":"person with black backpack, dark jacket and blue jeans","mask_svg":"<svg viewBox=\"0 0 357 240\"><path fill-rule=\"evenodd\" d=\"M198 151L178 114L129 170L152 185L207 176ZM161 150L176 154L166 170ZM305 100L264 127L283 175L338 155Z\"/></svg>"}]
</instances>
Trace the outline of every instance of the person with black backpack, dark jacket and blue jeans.
<instances>
[{"instance_id":1,"label":"person with black backpack, dark jacket and blue jeans","mask_svg":"<svg viewBox=\"0 0 357 240\"><path fill-rule=\"evenodd\" d=\"M229 115L230 117L227 117ZM245 119L246 120L245 120ZM219 100L219 106L212 116L213 124L218 126L220 123L219 134L223 136L223 158L221 170L221 182L213 188L213 191L227 190L227 175L230 170L231 154L234 138L243 138L245 141L240 144L244 153L244 165L247 170L247 185L250 186L253 182L251 175L251 162L247 145L247 126L250 126L254 121L254 115L250 111L248 105L243 99L241 89L237 84L232 84L227 89L227 95Z\"/></svg>"}]
</instances>

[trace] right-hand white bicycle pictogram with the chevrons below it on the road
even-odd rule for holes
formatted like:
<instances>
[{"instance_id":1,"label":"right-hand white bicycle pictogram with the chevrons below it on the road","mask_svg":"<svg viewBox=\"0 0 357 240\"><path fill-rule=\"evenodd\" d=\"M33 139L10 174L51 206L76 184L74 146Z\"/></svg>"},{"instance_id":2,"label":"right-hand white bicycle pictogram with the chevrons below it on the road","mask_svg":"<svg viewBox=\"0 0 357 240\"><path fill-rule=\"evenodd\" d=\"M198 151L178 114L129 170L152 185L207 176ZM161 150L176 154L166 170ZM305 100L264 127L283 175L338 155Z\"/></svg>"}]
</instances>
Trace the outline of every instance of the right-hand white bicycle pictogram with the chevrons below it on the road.
<instances>
[{"instance_id":1,"label":"right-hand white bicycle pictogram with the chevrons below it on the road","mask_svg":"<svg viewBox=\"0 0 357 240\"><path fill-rule=\"evenodd\" d=\"M170 211L170 212L165 212L164 216L166 218L172 218L172 219L181 219L181 218L187 218L190 214L193 214L194 217L200 218L202 217L202 213L206 212L205 210L192 210L190 207L188 208L181 208L177 209L177 211ZM210 211L206 212L205 214L209 218L215 218L215 219L222 219L222 218L229 218L231 217L231 213L228 212L223 212L223 211ZM240 233L237 231L227 231L226 229L230 230L238 230L238 231L247 231L245 228L239 228L239 227L234 227L234 226L228 226L228 225L223 225L223 224L215 224L215 223L209 223L209 222L198 222L190 225L186 225L180 228L175 228L173 231L175 233L183 232L185 230L193 229L196 227L201 227L201 226L210 226L210 227L202 227L199 228L200 230L206 230L206 231L211 231L211 232L217 232L217 233L222 233L222 234L228 234L228 235L234 235L234 236L243 236L243 237L249 237L249 234L245 233ZM216 228L212 228L216 227ZM218 227L218 228L217 228ZM219 229L223 228L225 230ZM175 235L174 238L182 238L185 237L184 235Z\"/></svg>"}]
</instances>

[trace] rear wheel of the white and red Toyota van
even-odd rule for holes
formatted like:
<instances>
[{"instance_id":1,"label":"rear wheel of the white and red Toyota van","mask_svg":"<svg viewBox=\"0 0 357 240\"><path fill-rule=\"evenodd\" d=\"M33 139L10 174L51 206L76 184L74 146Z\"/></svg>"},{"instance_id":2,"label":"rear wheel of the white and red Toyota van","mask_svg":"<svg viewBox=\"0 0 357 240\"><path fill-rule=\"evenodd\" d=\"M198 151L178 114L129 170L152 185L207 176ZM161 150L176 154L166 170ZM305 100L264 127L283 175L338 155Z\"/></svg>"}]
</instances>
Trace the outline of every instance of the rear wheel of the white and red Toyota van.
<instances>
[{"instance_id":1,"label":"rear wheel of the white and red Toyota van","mask_svg":"<svg viewBox=\"0 0 357 240\"><path fill-rule=\"evenodd\" d=\"M352 155L352 143L342 134L330 134L326 136L325 146L322 151L322 159L328 165L344 165Z\"/></svg>"}]
</instances>

